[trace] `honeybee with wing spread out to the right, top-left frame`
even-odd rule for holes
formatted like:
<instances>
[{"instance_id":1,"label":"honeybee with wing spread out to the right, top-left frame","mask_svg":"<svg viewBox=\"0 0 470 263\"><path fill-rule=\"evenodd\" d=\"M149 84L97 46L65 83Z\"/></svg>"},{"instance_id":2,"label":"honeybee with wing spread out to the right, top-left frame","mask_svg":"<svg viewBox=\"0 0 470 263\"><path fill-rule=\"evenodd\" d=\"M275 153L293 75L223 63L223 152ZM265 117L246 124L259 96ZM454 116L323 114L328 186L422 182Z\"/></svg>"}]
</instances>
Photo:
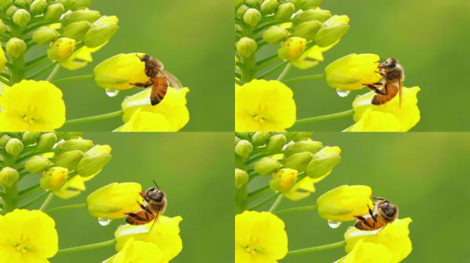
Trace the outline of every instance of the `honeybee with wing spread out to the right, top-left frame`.
<instances>
[{"instance_id":1,"label":"honeybee with wing spread out to the right, top-left frame","mask_svg":"<svg viewBox=\"0 0 470 263\"><path fill-rule=\"evenodd\" d=\"M137 55L137 54L136 54ZM140 61L145 63L145 75L147 75L149 81L146 83L131 83L131 85L138 88L148 88L152 86L152 92L150 92L150 103L153 106L160 103L168 91L168 84L173 88L183 88L183 84L171 73L164 69L164 64L156 58L150 55L144 55L139 57Z\"/></svg>"}]
</instances>

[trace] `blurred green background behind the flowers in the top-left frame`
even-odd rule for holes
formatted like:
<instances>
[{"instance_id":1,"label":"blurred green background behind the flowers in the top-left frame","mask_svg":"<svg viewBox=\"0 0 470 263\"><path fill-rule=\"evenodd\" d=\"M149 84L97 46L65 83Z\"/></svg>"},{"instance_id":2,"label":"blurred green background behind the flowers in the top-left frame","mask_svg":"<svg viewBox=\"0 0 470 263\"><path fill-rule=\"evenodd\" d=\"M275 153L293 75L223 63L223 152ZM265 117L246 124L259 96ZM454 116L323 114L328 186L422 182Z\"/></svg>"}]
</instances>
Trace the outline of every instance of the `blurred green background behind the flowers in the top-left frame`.
<instances>
[{"instance_id":1,"label":"blurred green background behind the flowers in the top-left frame","mask_svg":"<svg viewBox=\"0 0 470 263\"><path fill-rule=\"evenodd\" d=\"M190 123L184 130L233 130L234 108L228 107L234 103L230 88L234 66L231 1L99 0L93 1L90 9L118 16L120 30L93 55L93 63L79 71L63 69L56 79L89 75L96 64L118 53L148 53L190 88ZM37 50L36 55L43 55L43 50ZM59 86L65 94L69 120L120 110L124 97L140 91L132 89L110 98L91 79ZM113 118L66 129L109 132L120 125L121 119Z\"/></svg>"}]
</instances>

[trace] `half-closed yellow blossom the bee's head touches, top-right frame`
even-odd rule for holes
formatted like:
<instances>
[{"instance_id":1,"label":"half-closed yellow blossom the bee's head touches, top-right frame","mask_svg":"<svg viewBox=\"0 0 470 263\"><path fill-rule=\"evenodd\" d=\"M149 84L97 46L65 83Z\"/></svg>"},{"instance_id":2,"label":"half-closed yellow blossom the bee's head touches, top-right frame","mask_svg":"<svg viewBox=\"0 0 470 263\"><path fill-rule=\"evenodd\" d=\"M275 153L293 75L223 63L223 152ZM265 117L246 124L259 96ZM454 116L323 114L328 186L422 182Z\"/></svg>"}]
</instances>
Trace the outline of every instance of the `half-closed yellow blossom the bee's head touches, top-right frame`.
<instances>
[{"instance_id":1,"label":"half-closed yellow blossom the bee's head touches, top-right frame","mask_svg":"<svg viewBox=\"0 0 470 263\"><path fill-rule=\"evenodd\" d=\"M378 55L350 54L326 66L326 83L337 90L360 90L363 84L379 82Z\"/></svg>"}]
</instances>

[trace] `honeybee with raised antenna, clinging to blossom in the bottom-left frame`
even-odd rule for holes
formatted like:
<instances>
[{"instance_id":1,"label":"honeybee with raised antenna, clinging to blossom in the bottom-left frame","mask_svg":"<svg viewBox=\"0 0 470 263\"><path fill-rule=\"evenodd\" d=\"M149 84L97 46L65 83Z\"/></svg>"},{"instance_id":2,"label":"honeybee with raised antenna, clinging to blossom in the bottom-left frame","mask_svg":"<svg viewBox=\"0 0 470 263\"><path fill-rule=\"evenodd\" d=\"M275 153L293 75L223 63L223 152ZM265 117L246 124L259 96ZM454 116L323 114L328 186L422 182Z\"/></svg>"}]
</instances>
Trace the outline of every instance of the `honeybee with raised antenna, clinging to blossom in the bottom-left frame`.
<instances>
[{"instance_id":1,"label":"honeybee with raised antenna, clinging to blossom in the bottom-left frame","mask_svg":"<svg viewBox=\"0 0 470 263\"><path fill-rule=\"evenodd\" d=\"M145 192L140 192L140 196L145 201L145 204L139 203L140 208L135 213L126 213L126 223L130 225L145 225L146 223L150 223L153 221L152 226L150 227L150 231L157 222L158 217L160 214L163 214L166 209L166 195L165 193L160 190L157 183L153 181L157 188L149 188Z\"/></svg>"}]
</instances>

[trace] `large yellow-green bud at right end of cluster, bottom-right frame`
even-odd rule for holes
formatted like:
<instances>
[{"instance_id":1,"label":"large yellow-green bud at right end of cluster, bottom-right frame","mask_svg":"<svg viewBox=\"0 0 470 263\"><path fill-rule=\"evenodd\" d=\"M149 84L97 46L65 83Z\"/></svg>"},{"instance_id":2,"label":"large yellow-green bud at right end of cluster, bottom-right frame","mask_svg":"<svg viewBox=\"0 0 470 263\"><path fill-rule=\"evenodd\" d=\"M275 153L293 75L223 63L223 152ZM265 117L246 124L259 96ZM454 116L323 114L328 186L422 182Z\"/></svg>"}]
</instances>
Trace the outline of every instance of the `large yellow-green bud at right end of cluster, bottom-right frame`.
<instances>
[{"instance_id":1,"label":"large yellow-green bud at right end of cluster, bottom-right frame","mask_svg":"<svg viewBox=\"0 0 470 263\"><path fill-rule=\"evenodd\" d=\"M306 167L306 173L311 178L322 177L330 173L341 160L339 147L324 147L313 155L313 160Z\"/></svg>"}]
</instances>

